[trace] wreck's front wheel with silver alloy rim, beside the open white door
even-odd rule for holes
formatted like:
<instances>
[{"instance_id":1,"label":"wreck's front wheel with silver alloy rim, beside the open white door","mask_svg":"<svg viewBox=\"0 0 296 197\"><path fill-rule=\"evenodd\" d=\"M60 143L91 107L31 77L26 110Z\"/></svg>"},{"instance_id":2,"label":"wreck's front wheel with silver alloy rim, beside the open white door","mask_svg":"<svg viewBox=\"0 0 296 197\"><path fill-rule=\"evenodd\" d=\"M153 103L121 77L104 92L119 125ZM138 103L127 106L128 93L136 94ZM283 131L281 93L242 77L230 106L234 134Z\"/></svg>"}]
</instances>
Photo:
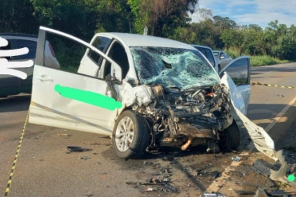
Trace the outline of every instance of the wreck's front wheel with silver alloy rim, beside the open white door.
<instances>
[{"instance_id":1,"label":"wreck's front wheel with silver alloy rim, beside the open white door","mask_svg":"<svg viewBox=\"0 0 296 197\"><path fill-rule=\"evenodd\" d=\"M124 111L116 120L112 143L118 157L140 158L148 147L150 131L142 116L131 110Z\"/></svg>"}]
</instances>

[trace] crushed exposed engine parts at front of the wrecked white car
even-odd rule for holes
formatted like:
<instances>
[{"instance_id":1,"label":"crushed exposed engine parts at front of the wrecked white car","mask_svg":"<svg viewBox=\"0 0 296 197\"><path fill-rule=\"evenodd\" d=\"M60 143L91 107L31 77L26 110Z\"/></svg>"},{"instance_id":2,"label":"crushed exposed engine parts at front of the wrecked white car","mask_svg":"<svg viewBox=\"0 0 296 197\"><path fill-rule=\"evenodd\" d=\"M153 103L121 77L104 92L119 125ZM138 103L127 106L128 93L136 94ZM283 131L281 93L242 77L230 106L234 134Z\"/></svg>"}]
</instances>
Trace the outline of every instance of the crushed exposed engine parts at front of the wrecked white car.
<instances>
[{"instance_id":1,"label":"crushed exposed engine parts at front of the wrecked white car","mask_svg":"<svg viewBox=\"0 0 296 197\"><path fill-rule=\"evenodd\" d=\"M229 93L223 85L188 91L157 85L150 91L150 102L134 104L133 110L151 120L154 144L186 150L219 140L219 132L232 124Z\"/></svg>"}]
</instances>

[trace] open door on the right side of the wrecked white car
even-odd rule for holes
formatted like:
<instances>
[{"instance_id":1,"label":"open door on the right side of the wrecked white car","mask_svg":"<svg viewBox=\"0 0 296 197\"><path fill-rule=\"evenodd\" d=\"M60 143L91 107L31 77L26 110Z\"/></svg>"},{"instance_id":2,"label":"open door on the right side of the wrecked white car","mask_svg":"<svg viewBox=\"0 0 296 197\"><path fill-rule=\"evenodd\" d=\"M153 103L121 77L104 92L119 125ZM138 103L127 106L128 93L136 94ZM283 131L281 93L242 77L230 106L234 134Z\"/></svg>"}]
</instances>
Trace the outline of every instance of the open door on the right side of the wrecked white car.
<instances>
[{"instance_id":1,"label":"open door on the right side of the wrecked white car","mask_svg":"<svg viewBox=\"0 0 296 197\"><path fill-rule=\"evenodd\" d=\"M222 83L228 84L235 107L247 115L251 97L250 58L247 56L236 58L220 71L219 76Z\"/></svg>"}]
</instances>

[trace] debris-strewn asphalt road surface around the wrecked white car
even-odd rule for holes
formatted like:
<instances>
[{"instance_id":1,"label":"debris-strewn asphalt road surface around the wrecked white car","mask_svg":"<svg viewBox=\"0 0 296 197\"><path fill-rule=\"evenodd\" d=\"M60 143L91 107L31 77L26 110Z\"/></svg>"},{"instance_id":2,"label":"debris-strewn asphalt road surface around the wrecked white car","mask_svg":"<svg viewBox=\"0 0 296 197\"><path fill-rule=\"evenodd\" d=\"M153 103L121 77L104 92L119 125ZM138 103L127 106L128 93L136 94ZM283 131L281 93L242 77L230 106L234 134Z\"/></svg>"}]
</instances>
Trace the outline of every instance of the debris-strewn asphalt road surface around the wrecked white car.
<instances>
[{"instance_id":1,"label":"debris-strewn asphalt road surface around the wrecked white car","mask_svg":"<svg viewBox=\"0 0 296 197\"><path fill-rule=\"evenodd\" d=\"M296 64L252 68L251 82L296 86ZM295 116L280 113L295 97L293 89L252 86L248 117L263 128L277 117L274 127L284 130ZM28 95L0 99L0 194L4 194L7 186L29 102ZM292 105L289 110L293 108ZM273 132L276 138L281 131ZM92 150L67 154L66 147L70 145ZM172 154L173 162L164 161L163 153L157 152L143 160L124 161L115 156L109 137L28 124L8 196L196 196L212 180L193 179L189 175L190 166L207 168L219 163L214 169L221 171L233 156L233 153L214 155L199 150ZM143 188L126 185L126 181L145 181L151 177L169 177L180 193L166 190L141 193Z\"/></svg>"}]
</instances>

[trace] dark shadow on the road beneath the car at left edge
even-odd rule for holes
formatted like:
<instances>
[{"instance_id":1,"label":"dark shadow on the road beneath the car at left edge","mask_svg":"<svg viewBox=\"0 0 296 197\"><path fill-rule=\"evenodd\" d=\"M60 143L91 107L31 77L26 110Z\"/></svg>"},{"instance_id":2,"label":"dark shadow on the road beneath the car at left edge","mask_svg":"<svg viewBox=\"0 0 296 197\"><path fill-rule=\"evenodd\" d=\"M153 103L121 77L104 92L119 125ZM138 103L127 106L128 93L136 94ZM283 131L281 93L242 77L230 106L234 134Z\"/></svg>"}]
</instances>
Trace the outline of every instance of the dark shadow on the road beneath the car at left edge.
<instances>
[{"instance_id":1,"label":"dark shadow on the road beneath the car at left edge","mask_svg":"<svg viewBox=\"0 0 296 197\"><path fill-rule=\"evenodd\" d=\"M27 111L31 95L17 95L9 96L0 99L0 113L14 112L14 111Z\"/></svg>"}]
</instances>

